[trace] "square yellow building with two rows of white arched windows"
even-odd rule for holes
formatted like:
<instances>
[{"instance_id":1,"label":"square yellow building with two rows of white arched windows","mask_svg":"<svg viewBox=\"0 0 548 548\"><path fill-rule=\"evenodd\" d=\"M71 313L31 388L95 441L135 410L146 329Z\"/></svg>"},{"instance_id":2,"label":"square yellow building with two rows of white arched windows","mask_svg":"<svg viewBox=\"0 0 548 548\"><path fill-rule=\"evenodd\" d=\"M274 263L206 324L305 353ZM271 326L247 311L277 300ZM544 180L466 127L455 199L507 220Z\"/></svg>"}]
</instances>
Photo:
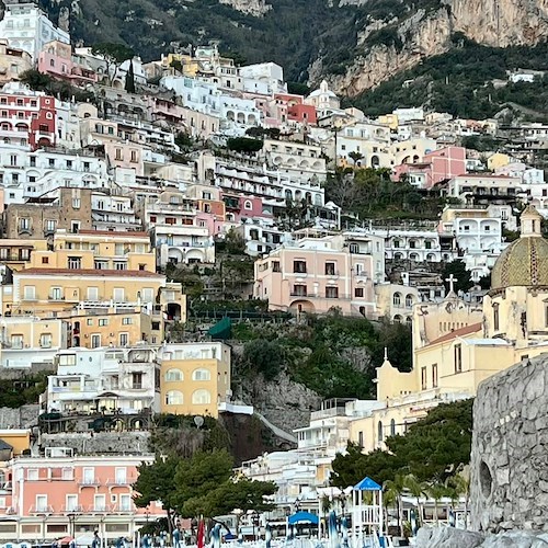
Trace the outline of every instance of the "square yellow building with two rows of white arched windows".
<instances>
[{"instance_id":1,"label":"square yellow building with two rows of white arched windows","mask_svg":"<svg viewBox=\"0 0 548 548\"><path fill-rule=\"evenodd\" d=\"M218 415L231 395L229 346L171 344L160 359L162 413Z\"/></svg>"}]
</instances>

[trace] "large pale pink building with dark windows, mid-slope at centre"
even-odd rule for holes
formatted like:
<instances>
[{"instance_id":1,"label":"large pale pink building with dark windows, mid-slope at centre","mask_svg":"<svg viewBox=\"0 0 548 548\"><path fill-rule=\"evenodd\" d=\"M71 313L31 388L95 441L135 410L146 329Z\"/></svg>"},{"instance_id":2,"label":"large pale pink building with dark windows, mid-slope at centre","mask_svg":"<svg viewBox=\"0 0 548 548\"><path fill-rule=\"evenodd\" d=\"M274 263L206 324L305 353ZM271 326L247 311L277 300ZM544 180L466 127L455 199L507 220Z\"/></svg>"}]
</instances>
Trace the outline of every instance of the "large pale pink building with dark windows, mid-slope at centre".
<instances>
[{"instance_id":1,"label":"large pale pink building with dark windows, mid-slope at centre","mask_svg":"<svg viewBox=\"0 0 548 548\"><path fill-rule=\"evenodd\" d=\"M376 317L374 283L385 278L384 238L305 237L255 262L254 296L271 310Z\"/></svg>"}]
</instances>

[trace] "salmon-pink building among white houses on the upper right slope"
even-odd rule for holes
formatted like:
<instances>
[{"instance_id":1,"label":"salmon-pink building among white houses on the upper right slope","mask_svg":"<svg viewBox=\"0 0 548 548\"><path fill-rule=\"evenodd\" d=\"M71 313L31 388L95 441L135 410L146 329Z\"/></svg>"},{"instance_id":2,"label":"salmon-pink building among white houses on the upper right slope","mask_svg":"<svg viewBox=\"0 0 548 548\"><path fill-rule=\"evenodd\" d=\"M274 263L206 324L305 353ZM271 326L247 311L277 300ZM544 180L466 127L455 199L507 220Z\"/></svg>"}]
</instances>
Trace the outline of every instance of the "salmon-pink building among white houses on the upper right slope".
<instances>
[{"instance_id":1,"label":"salmon-pink building among white houses on the upper right slope","mask_svg":"<svg viewBox=\"0 0 548 548\"><path fill-rule=\"evenodd\" d=\"M431 189L434 184L466 174L466 148L446 147L424 155L422 162L401 163L393 169L393 179L402 174L421 176L421 186Z\"/></svg>"}]
</instances>

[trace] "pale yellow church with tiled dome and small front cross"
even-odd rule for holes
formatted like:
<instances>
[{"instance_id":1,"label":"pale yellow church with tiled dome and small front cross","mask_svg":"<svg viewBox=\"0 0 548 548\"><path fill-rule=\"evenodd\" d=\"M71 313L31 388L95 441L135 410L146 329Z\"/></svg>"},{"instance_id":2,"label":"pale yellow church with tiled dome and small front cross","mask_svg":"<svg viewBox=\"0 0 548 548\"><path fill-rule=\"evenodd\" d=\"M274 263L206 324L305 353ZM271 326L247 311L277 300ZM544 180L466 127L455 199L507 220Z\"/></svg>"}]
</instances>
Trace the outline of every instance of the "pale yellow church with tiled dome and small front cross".
<instances>
[{"instance_id":1,"label":"pale yellow church with tiled dome and small front cross","mask_svg":"<svg viewBox=\"0 0 548 548\"><path fill-rule=\"evenodd\" d=\"M454 292L439 305L415 306L413 369L400 373L386 356L377 369L385 406L351 422L352 441L367 452L383 448L386 436L404 433L430 409L472 397L482 380L548 352L548 241L540 222L533 206L522 214L521 238L498 259L481 309Z\"/></svg>"}]
</instances>

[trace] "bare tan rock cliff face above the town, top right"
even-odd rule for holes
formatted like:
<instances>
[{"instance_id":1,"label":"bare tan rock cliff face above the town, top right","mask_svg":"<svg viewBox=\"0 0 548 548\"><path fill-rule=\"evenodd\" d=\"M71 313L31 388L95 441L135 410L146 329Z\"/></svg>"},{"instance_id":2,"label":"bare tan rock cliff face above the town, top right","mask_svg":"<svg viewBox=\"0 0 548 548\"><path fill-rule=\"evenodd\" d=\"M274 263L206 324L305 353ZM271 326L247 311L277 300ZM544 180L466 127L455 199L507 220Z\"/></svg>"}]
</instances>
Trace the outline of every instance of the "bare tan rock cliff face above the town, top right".
<instances>
[{"instance_id":1,"label":"bare tan rock cliff face above the town, top right","mask_svg":"<svg viewBox=\"0 0 548 548\"><path fill-rule=\"evenodd\" d=\"M330 78L331 84L354 96L447 52L454 33L494 47L535 45L548 34L548 0L447 0L390 21L368 19L358 34L358 55L344 73ZM310 81L322 68L321 60L313 64Z\"/></svg>"}]
</instances>

